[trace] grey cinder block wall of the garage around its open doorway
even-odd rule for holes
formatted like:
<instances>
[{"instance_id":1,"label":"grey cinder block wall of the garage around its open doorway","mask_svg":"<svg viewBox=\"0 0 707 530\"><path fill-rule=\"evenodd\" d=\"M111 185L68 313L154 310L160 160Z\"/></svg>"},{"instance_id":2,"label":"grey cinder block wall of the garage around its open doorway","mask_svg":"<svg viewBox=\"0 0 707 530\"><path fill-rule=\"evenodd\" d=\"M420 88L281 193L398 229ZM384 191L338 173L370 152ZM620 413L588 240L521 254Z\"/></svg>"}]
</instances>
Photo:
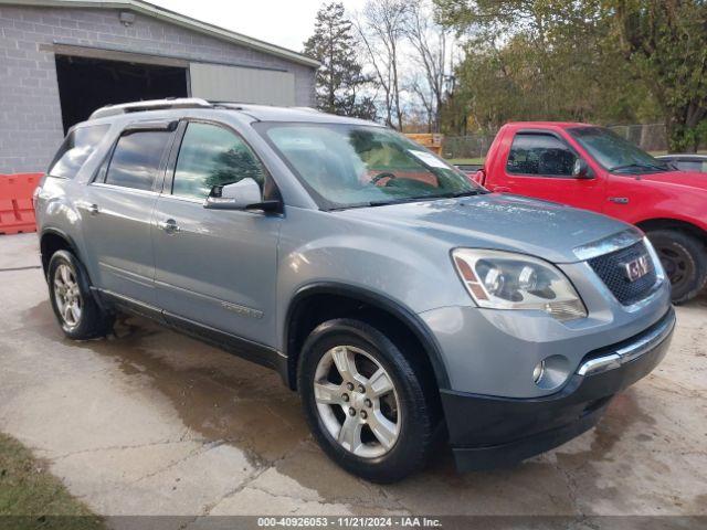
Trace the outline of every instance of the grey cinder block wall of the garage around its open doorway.
<instances>
[{"instance_id":1,"label":"grey cinder block wall of the garage around its open doorway","mask_svg":"<svg viewBox=\"0 0 707 530\"><path fill-rule=\"evenodd\" d=\"M0 7L0 173L44 171L63 138L56 67L40 44L76 44L295 74L297 105L314 105L314 68L119 10ZM264 22L265 23L265 22Z\"/></svg>"}]
</instances>

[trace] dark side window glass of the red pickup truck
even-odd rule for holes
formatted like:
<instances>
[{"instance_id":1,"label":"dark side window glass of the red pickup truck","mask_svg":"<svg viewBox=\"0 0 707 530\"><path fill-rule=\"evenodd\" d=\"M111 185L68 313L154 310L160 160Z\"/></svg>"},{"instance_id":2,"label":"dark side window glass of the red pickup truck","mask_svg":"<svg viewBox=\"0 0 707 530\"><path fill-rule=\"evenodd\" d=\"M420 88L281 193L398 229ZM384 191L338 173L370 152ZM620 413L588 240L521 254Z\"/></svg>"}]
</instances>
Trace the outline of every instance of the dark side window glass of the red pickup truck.
<instances>
[{"instance_id":1,"label":"dark side window glass of the red pickup truck","mask_svg":"<svg viewBox=\"0 0 707 530\"><path fill-rule=\"evenodd\" d=\"M552 135L518 132L506 171L516 174L572 177L577 155Z\"/></svg>"}]
</instances>

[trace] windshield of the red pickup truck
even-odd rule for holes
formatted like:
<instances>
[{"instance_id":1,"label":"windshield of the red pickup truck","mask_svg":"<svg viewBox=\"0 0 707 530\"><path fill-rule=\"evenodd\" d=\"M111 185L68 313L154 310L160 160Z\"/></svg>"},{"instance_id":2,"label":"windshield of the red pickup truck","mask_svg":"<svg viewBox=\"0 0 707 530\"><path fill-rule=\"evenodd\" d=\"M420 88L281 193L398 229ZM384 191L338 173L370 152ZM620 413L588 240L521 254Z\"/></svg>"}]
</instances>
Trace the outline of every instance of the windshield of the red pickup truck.
<instances>
[{"instance_id":1,"label":"windshield of the red pickup truck","mask_svg":"<svg viewBox=\"0 0 707 530\"><path fill-rule=\"evenodd\" d=\"M576 127L569 132L609 171L635 173L669 170L665 162L603 127Z\"/></svg>"}]
</instances>

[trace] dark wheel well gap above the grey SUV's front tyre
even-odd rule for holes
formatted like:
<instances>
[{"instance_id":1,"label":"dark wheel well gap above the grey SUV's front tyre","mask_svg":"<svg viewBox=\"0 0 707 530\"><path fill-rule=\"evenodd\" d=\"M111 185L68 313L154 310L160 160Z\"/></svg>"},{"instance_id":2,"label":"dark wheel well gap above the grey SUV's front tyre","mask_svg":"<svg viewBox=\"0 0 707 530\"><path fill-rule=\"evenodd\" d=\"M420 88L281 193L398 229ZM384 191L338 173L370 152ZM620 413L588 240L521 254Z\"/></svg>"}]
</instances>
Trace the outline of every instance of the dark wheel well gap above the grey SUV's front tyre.
<instances>
[{"instance_id":1,"label":"dark wheel well gap above the grey SUV's front tyre","mask_svg":"<svg viewBox=\"0 0 707 530\"><path fill-rule=\"evenodd\" d=\"M287 383L297 389L297 363L302 347L309 333L321 322L335 318L354 318L386 333L415 367L421 383L430 395L439 400L439 378L419 330L399 315L370 300L355 296L320 293L295 301L287 320ZM439 370L439 369L437 369Z\"/></svg>"}]
</instances>

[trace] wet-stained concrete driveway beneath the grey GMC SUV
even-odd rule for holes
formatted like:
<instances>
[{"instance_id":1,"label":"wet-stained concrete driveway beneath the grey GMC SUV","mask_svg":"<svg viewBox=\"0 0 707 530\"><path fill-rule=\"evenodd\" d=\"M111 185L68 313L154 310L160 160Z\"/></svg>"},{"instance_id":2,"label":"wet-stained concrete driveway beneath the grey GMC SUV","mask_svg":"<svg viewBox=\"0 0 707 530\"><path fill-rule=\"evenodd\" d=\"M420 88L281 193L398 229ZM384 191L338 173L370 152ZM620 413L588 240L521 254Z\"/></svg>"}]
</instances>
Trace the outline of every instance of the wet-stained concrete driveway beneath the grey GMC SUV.
<instances>
[{"instance_id":1,"label":"wet-stained concrete driveway beneath the grey GMC SUV","mask_svg":"<svg viewBox=\"0 0 707 530\"><path fill-rule=\"evenodd\" d=\"M707 515L705 296L597 428L514 469L440 454L381 487L327 459L274 372L135 318L64 339L34 234L0 236L0 431L97 513Z\"/></svg>"}]
</instances>

